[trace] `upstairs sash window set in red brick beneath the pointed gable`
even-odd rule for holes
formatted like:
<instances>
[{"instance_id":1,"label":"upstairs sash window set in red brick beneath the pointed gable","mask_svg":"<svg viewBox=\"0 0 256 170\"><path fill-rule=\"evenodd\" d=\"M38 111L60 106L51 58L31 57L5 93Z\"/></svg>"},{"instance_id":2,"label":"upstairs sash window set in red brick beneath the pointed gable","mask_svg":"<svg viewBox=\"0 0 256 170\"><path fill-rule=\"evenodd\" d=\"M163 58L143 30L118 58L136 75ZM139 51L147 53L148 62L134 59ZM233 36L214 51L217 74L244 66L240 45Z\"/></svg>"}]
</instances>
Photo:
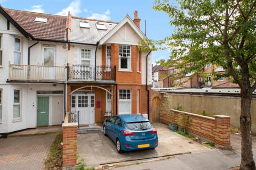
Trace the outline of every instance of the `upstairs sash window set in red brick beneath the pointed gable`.
<instances>
[{"instance_id":1,"label":"upstairs sash window set in red brick beneath the pointed gable","mask_svg":"<svg viewBox=\"0 0 256 170\"><path fill-rule=\"evenodd\" d=\"M119 69L131 70L131 46L119 45Z\"/></svg>"}]
</instances>

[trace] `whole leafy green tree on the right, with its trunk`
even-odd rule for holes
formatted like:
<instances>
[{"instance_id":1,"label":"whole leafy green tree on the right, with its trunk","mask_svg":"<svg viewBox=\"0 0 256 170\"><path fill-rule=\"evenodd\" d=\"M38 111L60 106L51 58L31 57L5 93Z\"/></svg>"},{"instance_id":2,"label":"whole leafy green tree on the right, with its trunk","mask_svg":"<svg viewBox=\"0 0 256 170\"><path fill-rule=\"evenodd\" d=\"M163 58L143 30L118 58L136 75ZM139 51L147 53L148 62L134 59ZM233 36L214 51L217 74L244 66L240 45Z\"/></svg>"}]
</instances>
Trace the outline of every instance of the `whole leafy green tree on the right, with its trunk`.
<instances>
[{"instance_id":1,"label":"whole leafy green tree on the right, with its trunk","mask_svg":"<svg viewBox=\"0 0 256 170\"><path fill-rule=\"evenodd\" d=\"M254 0L155 0L154 10L169 15L173 34L163 40L147 41L154 49L170 49L170 60L185 75L202 73L207 63L222 67L241 89L240 128L242 135L240 169L256 169L252 153L251 100L256 89L256 37ZM143 47L142 47L143 48ZM182 61L182 62L179 62ZM193 64L191 64L193 63ZM188 66L189 65L189 66Z\"/></svg>"}]
</instances>

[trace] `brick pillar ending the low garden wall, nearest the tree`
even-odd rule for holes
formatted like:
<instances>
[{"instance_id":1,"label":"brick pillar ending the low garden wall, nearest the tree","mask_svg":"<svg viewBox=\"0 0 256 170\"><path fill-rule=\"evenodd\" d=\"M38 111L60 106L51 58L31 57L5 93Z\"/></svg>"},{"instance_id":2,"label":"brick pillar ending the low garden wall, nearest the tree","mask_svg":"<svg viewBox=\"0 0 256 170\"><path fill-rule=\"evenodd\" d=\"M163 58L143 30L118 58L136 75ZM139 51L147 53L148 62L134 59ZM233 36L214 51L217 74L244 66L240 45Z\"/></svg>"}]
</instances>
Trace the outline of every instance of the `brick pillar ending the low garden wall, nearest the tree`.
<instances>
[{"instance_id":1,"label":"brick pillar ending the low garden wall, nearest the tree","mask_svg":"<svg viewBox=\"0 0 256 170\"><path fill-rule=\"evenodd\" d=\"M221 149L230 148L230 116L215 115L215 143Z\"/></svg>"}]
</instances>

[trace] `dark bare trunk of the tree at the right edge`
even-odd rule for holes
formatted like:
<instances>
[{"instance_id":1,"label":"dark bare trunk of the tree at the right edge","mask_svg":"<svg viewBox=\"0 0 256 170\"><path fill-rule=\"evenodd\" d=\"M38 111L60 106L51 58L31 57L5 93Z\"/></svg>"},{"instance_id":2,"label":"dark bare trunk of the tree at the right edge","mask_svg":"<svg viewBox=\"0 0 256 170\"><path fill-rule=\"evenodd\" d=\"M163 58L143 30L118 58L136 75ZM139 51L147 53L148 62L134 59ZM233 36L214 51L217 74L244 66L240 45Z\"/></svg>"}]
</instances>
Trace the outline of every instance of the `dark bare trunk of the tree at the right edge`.
<instances>
[{"instance_id":1,"label":"dark bare trunk of the tree at the right edge","mask_svg":"<svg viewBox=\"0 0 256 170\"><path fill-rule=\"evenodd\" d=\"M251 120L252 94L248 89L241 88L241 170L255 170L255 163L252 154L252 120Z\"/></svg>"}]
</instances>

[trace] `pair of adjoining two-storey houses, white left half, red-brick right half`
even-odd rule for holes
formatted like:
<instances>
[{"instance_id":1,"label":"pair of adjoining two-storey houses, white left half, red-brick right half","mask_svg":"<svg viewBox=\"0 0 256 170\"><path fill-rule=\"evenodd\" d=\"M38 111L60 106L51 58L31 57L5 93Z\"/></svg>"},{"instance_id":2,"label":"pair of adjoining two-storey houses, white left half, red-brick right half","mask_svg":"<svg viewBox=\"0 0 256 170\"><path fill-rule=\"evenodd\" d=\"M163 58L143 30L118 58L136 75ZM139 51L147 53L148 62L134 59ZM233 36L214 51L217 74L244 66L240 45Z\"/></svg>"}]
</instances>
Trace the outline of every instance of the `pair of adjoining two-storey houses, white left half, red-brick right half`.
<instances>
[{"instance_id":1,"label":"pair of adjoining two-storey houses, white left half, red-brick right half","mask_svg":"<svg viewBox=\"0 0 256 170\"><path fill-rule=\"evenodd\" d=\"M102 115L149 114L151 54L140 19L99 21L0 5L0 133L81 125ZM74 117L73 117L74 118Z\"/></svg>"}]
</instances>

